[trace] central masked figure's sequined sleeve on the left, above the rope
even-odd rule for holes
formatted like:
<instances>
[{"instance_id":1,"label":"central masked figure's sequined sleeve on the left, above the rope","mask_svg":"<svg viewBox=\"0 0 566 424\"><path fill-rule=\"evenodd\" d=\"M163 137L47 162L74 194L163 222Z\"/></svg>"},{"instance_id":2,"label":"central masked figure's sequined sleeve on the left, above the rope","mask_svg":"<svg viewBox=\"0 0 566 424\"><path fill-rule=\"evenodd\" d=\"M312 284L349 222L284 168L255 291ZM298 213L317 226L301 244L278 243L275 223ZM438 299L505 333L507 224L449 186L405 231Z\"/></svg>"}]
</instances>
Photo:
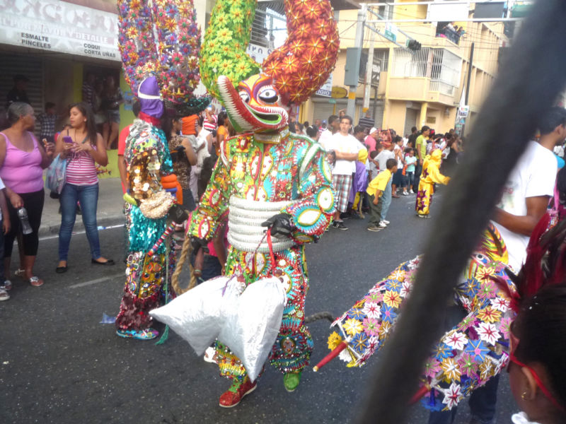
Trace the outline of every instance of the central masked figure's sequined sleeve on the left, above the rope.
<instances>
[{"instance_id":1,"label":"central masked figure's sequined sleeve on the left, above the rope","mask_svg":"<svg viewBox=\"0 0 566 424\"><path fill-rule=\"evenodd\" d=\"M219 223L226 220L230 193L230 174L222 158L219 158L207 189L200 198L199 207L191 214L187 234L204 240L212 239Z\"/></svg>"}]
</instances>

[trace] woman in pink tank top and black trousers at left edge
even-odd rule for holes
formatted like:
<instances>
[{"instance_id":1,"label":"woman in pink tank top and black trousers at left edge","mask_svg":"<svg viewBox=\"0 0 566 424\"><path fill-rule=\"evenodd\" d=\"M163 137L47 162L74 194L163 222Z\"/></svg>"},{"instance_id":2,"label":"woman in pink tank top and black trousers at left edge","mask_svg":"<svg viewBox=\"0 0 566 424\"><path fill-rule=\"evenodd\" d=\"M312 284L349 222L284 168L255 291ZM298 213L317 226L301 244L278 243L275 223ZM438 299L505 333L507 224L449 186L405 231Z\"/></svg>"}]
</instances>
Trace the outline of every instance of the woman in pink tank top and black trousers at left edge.
<instances>
[{"instance_id":1,"label":"woman in pink tank top and black trousers at left edge","mask_svg":"<svg viewBox=\"0 0 566 424\"><path fill-rule=\"evenodd\" d=\"M25 208L31 232L22 235L23 257L20 266L23 267L25 279L31 285L38 286L43 281L33 275L33 264L37 256L38 231L45 198L42 175L53 159L54 149L47 142L44 147L39 146L35 136L28 131L35 124L33 107L28 103L13 102L8 107L8 120L10 128L0 132L0 177L6 185L11 222L11 229L4 237L4 276L9 283L13 240L21 231L18 209Z\"/></svg>"}]
</instances>

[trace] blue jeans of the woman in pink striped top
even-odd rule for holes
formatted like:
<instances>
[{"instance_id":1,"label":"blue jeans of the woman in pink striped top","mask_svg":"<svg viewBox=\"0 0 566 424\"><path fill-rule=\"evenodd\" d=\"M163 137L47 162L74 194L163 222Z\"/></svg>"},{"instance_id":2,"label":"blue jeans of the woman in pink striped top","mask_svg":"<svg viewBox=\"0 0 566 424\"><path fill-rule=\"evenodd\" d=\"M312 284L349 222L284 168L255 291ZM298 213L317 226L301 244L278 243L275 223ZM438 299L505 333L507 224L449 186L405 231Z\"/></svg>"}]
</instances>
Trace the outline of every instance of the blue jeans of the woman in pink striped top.
<instances>
[{"instance_id":1,"label":"blue jeans of the woman in pink striped top","mask_svg":"<svg viewBox=\"0 0 566 424\"><path fill-rule=\"evenodd\" d=\"M61 228L59 228L59 261L67 261L71 232L75 225L76 202L81 204L86 238L91 246L93 259L100 258L96 206L98 204L98 183L88 186L65 184L61 192Z\"/></svg>"}]
</instances>

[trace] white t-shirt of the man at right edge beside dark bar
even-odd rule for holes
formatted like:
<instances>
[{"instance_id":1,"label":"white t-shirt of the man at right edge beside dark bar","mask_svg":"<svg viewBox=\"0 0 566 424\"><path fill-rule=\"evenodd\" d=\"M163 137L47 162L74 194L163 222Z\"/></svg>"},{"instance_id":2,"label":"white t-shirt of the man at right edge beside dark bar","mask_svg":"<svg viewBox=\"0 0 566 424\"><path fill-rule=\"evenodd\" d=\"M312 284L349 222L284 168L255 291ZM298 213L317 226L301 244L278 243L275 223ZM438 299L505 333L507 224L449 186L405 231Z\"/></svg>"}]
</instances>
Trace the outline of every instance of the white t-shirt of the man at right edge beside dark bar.
<instances>
[{"instance_id":1,"label":"white t-shirt of the man at right edge beside dark bar","mask_svg":"<svg viewBox=\"0 0 566 424\"><path fill-rule=\"evenodd\" d=\"M553 196L556 172L558 164L553 153L536 141L529 141L526 151L507 178L497 207L516 216L526 216L528 197ZM494 224L507 245L509 265L519 272L526 259L529 237Z\"/></svg>"}]
</instances>

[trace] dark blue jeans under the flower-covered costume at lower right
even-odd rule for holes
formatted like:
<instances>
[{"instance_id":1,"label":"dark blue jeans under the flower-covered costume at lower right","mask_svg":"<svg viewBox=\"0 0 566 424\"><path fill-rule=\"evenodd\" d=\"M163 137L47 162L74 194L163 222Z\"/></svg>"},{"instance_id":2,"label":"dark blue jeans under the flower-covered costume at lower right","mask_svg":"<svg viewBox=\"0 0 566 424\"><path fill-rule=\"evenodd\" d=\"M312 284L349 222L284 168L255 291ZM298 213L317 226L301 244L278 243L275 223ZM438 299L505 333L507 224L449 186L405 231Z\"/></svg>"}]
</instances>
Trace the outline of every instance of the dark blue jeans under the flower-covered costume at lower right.
<instances>
[{"instance_id":1,"label":"dark blue jeans under the flower-covered costume at lower right","mask_svg":"<svg viewBox=\"0 0 566 424\"><path fill-rule=\"evenodd\" d=\"M445 330L448 331L456 326L466 312L462 307L452 306L446 309L444 316ZM499 375L490 378L485 385L479 389L475 389L470 394L468 405L470 406L470 415L473 422L480 424L495 423L495 403L497 401L497 385L499 384ZM429 416L429 424L452 424L456 418L458 408L452 408L450 411L435 411Z\"/></svg>"}]
</instances>

